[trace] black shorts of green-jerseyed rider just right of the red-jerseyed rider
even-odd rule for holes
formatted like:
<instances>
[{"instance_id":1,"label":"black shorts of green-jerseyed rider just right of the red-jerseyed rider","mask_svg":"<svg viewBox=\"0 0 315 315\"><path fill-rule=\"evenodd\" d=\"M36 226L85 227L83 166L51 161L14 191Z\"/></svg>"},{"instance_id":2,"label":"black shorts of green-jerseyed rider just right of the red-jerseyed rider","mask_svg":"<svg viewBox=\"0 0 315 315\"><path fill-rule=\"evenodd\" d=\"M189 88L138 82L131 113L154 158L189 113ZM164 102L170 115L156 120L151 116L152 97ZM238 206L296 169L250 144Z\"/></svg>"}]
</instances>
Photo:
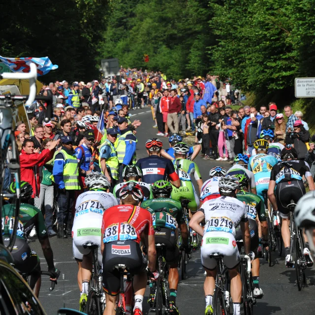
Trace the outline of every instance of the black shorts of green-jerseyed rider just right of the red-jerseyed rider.
<instances>
[{"instance_id":1,"label":"black shorts of green-jerseyed rider just right of the red-jerseyed rider","mask_svg":"<svg viewBox=\"0 0 315 315\"><path fill-rule=\"evenodd\" d=\"M177 264L180 253L175 230L167 227L157 227L154 232L156 244L165 244L162 248L162 253L167 264Z\"/></svg>"}]
</instances>

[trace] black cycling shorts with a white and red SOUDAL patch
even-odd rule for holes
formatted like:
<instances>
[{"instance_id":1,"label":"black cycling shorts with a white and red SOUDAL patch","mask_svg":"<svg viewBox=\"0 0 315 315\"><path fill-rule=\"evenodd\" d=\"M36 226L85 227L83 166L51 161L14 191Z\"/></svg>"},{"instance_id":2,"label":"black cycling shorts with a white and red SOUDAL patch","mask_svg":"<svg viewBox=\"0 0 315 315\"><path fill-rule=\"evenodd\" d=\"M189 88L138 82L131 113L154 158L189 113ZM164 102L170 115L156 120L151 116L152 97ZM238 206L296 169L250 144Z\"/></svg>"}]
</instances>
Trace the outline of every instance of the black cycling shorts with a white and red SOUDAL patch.
<instances>
[{"instance_id":1,"label":"black cycling shorts with a white and red SOUDAL patch","mask_svg":"<svg viewBox=\"0 0 315 315\"><path fill-rule=\"evenodd\" d=\"M145 271L148 262L141 252L140 245L135 241L114 241L105 243L103 252L103 289L109 295L115 296L120 291L120 272L116 265L124 264L128 272L136 275Z\"/></svg>"}]
</instances>

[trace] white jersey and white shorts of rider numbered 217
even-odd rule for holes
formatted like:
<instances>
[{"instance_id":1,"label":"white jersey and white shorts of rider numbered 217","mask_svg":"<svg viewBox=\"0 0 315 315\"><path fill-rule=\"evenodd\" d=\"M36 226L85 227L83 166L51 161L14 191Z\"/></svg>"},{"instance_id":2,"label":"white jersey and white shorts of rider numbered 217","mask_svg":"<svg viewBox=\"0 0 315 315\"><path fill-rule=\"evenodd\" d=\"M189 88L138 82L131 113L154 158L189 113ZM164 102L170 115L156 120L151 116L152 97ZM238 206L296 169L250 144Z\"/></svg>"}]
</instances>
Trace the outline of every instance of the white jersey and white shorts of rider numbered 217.
<instances>
[{"instance_id":1,"label":"white jersey and white shorts of rider numbered 217","mask_svg":"<svg viewBox=\"0 0 315 315\"><path fill-rule=\"evenodd\" d=\"M101 227L103 213L106 209L117 206L118 201L112 193L104 191L86 191L78 196L75 204L75 215L72 226L73 256L83 259L89 254L89 249L84 249L86 243L98 244L98 257L101 264Z\"/></svg>"}]
</instances>

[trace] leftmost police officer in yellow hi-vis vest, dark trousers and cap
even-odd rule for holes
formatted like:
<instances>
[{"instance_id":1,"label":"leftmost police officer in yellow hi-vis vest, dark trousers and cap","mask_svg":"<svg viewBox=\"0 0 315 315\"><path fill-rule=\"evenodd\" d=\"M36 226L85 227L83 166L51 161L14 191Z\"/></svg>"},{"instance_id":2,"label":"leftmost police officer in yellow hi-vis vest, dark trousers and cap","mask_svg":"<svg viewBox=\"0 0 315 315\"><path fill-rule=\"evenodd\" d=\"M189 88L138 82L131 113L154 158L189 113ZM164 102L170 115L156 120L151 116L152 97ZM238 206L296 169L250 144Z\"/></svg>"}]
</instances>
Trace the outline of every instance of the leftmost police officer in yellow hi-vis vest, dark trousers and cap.
<instances>
[{"instance_id":1,"label":"leftmost police officer in yellow hi-vis vest, dark trousers and cap","mask_svg":"<svg viewBox=\"0 0 315 315\"><path fill-rule=\"evenodd\" d=\"M53 181L57 186L57 201L59 212L58 238L71 235L71 211L75 200L75 192L80 189L79 165L72 148L73 140L70 136L61 138L62 148L54 158Z\"/></svg>"}]
</instances>

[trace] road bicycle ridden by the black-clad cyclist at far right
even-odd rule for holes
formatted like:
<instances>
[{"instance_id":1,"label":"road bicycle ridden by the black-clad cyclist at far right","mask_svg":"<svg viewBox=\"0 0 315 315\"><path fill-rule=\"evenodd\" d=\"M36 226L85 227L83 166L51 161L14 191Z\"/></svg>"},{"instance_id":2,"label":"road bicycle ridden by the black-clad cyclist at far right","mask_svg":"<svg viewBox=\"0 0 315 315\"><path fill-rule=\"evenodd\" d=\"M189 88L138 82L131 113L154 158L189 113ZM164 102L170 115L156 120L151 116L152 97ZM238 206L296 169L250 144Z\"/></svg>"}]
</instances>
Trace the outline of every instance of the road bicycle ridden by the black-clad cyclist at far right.
<instances>
[{"instance_id":1,"label":"road bicycle ridden by the black-clad cyclist at far right","mask_svg":"<svg viewBox=\"0 0 315 315\"><path fill-rule=\"evenodd\" d=\"M294 221L294 209L296 204L290 203L287 208L290 211L290 255L293 256L294 252L294 264L292 267L295 267L296 273L296 283L298 290L302 290L302 283L306 284L305 269L306 269L306 260L303 254L305 248L304 238L302 235L302 230L296 225Z\"/></svg>"}]
</instances>

